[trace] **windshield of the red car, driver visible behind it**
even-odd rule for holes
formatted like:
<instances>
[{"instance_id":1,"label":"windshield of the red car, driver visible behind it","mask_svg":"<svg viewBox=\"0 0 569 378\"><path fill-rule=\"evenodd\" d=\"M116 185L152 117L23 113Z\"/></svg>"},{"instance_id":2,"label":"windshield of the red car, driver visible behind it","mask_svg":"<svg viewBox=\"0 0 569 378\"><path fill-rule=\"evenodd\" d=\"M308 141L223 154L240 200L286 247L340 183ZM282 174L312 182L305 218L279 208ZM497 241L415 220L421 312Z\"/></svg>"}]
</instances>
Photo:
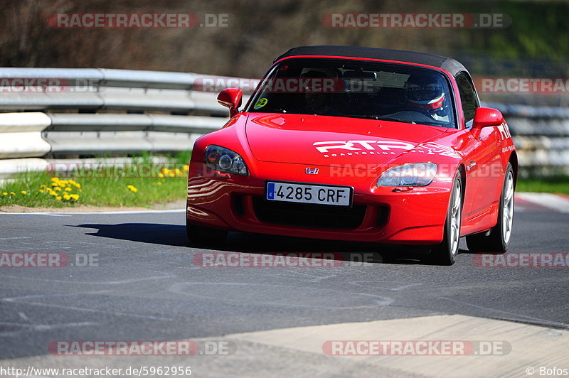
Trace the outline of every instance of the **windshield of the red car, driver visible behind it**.
<instances>
[{"instance_id":1,"label":"windshield of the red car, driver visible behind it","mask_svg":"<svg viewBox=\"0 0 569 378\"><path fill-rule=\"evenodd\" d=\"M454 127L442 73L414 65L327 58L282 61L248 112L384 119Z\"/></svg>"}]
</instances>

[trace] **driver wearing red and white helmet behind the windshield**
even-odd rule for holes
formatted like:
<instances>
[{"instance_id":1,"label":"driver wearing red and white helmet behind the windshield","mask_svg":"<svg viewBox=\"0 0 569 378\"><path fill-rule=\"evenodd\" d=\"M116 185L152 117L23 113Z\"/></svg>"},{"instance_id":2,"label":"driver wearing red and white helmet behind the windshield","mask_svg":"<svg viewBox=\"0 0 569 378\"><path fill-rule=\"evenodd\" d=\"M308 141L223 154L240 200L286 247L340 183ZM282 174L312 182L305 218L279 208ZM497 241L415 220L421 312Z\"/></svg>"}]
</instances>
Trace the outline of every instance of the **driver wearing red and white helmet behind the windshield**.
<instances>
[{"instance_id":1,"label":"driver wearing red and white helmet behind the windshield","mask_svg":"<svg viewBox=\"0 0 569 378\"><path fill-rule=\"evenodd\" d=\"M435 121L447 122L451 115L444 88L435 77L411 77L405 82L405 99L408 106L418 109Z\"/></svg>"}]
</instances>

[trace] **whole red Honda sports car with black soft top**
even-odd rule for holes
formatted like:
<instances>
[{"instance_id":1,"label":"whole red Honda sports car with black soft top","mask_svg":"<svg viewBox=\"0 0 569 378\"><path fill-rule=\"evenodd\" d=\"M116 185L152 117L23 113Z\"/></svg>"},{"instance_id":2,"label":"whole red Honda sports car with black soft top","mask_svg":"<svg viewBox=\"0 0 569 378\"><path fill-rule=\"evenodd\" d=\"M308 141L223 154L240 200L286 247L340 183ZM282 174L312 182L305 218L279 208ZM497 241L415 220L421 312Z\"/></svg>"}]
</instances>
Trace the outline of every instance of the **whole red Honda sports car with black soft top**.
<instances>
[{"instance_id":1,"label":"whole red Honda sports car with black soft top","mask_svg":"<svg viewBox=\"0 0 569 378\"><path fill-rule=\"evenodd\" d=\"M505 252L518 158L457 60L343 46L275 59L248 104L223 90L222 129L193 146L188 237L229 230L431 246L453 264Z\"/></svg>"}]
</instances>

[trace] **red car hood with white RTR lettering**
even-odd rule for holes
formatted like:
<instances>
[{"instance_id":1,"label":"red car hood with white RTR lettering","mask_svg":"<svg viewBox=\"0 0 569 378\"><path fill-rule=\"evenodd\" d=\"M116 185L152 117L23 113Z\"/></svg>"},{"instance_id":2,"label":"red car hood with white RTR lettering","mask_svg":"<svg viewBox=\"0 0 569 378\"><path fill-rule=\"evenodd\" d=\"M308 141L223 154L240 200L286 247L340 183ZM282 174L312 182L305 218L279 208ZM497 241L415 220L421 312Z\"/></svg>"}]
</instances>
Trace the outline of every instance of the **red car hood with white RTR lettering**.
<instances>
[{"instance_id":1,"label":"red car hood with white RTR lettering","mask_svg":"<svg viewBox=\"0 0 569 378\"><path fill-rule=\"evenodd\" d=\"M245 131L259 161L327 166L379 165L446 129L375 119L304 114L249 114Z\"/></svg>"}]
</instances>

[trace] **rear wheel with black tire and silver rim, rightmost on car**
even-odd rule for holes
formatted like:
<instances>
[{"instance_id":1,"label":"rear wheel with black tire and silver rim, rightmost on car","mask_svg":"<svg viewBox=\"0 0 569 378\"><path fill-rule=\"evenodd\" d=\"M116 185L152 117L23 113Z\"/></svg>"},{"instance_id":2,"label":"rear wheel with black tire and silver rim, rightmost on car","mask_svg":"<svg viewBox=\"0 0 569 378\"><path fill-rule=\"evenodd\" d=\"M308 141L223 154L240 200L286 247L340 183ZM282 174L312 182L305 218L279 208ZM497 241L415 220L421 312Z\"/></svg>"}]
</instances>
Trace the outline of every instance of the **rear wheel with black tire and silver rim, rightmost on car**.
<instances>
[{"instance_id":1,"label":"rear wheel with black tire and silver rim, rightmost on car","mask_svg":"<svg viewBox=\"0 0 569 378\"><path fill-rule=\"evenodd\" d=\"M503 254L508 250L514 225L514 186L514 169L508 163L500 195L498 222L490 231L467 236L467 246L470 252Z\"/></svg>"}]
</instances>

